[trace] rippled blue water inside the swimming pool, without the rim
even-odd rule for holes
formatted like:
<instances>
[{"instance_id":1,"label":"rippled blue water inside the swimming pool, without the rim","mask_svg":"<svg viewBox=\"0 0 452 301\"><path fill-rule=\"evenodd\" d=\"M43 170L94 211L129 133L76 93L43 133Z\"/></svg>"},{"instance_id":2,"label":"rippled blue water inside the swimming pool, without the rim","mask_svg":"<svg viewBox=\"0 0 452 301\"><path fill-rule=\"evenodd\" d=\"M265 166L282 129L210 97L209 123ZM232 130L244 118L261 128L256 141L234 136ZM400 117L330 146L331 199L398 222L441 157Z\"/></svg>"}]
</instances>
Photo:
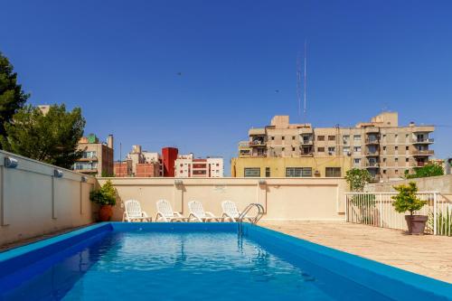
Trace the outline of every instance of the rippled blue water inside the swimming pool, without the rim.
<instances>
[{"instance_id":1,"label":"rippled blue water inside the swimming pool, without the rim","mask_svg":"<svg viewBox=\"0 0 452 301\"><path fill-rule=\"evenodd\" d=\"M24 268L0 274L0 300L392 299L379 293L378 278L375 287L358 284L309 256L294 257L278 237L259 243L231 225L127 227L33 255Z\"/></svg>"}]
</instances>

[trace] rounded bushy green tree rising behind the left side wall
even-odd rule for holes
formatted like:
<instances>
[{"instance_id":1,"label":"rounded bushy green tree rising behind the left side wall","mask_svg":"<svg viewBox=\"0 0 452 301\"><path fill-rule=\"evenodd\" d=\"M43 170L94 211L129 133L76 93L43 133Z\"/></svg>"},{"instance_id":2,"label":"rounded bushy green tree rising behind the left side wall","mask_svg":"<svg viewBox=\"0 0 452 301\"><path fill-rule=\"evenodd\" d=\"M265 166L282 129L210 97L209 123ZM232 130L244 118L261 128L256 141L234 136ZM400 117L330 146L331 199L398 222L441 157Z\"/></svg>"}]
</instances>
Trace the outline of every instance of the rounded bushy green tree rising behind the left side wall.
<instances>
[{"instance_id":1,"label":"rounded bushy green tree rising behind the left side wall","mask_svg":"<svg viewBox=\"0 0 452 301\"><path fill-rule=\"evenodd\" d=\"M6 151L71 168L82 155L77 146L84 127L80 108L67 112L64 105L53 105L42 114L41 109L29 105L5 125L6 136L0 141Z\"/></svg>"}]
</instances>

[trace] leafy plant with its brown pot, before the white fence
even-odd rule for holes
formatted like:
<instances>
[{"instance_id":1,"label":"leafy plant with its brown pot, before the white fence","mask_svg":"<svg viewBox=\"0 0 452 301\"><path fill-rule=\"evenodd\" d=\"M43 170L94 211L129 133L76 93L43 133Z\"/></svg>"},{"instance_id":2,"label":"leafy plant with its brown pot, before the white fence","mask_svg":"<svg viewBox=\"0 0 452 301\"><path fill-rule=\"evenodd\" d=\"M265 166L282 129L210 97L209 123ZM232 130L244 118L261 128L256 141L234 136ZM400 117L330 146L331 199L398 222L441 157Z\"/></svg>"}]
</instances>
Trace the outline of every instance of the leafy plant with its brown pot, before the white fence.
<instances>
[{"instance_id":1,"label":"leafy plant with its brown pot, before the white fence","mask_svg":"<svg viewBox=\"0 0 452 301\"><path fill-rule=\"evenodd\" d=\"M428 216L415 215L414 212L419 211L427 202L419 200L416 196L416 193L418 192L416 183L410 182L408 185L401 184L399 186L394 186L394 189L399 192L397 195L392 196L392 200L395 201L392 203L395 211L399 213L410 212L410 215L405 215L408 232L410 234L424 234Z\"/></svg>"}]
</instances>

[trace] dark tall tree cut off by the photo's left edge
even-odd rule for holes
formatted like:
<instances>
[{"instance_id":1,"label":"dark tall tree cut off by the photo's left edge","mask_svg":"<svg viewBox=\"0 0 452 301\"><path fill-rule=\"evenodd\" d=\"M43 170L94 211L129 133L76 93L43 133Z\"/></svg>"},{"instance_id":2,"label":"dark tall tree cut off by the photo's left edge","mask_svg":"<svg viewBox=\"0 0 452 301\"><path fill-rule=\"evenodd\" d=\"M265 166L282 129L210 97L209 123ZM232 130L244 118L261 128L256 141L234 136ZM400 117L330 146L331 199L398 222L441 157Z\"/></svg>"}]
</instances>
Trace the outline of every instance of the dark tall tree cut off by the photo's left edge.
<instances>
[{"instance_id":1,"label":"dark tall tree cut off by the photo's left edge","mask_svg":"<svg viewBox=\"0 0 452 301\"><path fill-rule=\"evenodd\" d=\"M13 65L0 52L0 136L5 136L5 125L11 123L14 114L23 108L29 95L17 84ZM2 144L0 143L0 149Z\"/></svg>"}]
</instances>

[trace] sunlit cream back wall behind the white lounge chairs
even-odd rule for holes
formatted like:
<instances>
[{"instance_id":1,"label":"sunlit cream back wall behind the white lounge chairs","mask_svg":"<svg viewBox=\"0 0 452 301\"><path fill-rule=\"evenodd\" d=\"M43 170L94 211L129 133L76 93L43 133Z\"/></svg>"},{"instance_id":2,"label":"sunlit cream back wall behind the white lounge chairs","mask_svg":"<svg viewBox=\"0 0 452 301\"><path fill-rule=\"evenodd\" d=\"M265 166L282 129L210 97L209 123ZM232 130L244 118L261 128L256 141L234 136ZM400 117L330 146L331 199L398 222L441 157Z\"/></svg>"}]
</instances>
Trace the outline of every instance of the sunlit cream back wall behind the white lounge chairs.
<instances>
[{"instance_id":1,"label":"sunlit cream back wall behind the white lounge chairs","mask_svg":"<svg viewBox=\"0 0 452 301\"><path fill-rule=\"evenodd\" d=\"M98 178L103 184L108 178ZM122 203L138 200L155 218L155 202L166 199L174 211L188 216L187 203L202 202L206 211L221 215L221 202L231 200L242 210L250 202L266 209L264 220L344 220L342 178L110 178L118 190L115 220L122 219ZM175 185L181 180L182 185ZM259 184L259 180L265 181Z\"/></svg>"}]
</instances>

